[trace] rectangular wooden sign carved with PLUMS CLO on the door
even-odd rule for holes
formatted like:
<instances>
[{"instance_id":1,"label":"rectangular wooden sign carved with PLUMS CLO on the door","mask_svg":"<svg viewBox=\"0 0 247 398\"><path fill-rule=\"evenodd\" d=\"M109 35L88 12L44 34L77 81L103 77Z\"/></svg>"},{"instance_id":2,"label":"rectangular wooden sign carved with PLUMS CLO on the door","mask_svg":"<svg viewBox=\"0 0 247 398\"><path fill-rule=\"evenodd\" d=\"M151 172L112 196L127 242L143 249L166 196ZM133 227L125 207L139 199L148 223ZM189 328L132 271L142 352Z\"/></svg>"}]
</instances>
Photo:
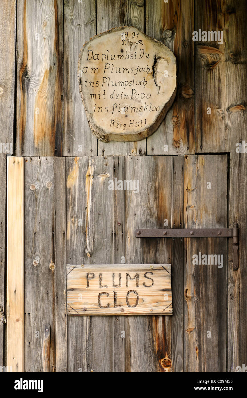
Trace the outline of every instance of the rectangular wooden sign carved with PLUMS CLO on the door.
<instances>
[{"instance_id":1,"label":"rectangular wooden sign carved with PLUMS CLO on the door","mask_svg":"<svg viewBox=\"0 0 247 398\"><path fill-rule=\"evenodd\" d=\"M172 315L170 264L69 265L68 315Z\"/></svg>"}]
</instances>

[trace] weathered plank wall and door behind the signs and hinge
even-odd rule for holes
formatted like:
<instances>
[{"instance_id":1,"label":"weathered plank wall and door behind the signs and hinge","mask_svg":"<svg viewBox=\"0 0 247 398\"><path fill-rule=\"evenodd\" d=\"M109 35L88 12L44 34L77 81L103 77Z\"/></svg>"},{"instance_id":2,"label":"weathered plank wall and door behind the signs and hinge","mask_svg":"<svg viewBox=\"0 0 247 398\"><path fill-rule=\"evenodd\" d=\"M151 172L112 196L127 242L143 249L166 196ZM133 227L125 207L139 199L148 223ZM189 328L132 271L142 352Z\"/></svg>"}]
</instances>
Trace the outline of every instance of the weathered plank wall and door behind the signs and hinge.
<instances>
[{"instance_id":1,"label":"weathered plank wall and door behind the signs and hinge","mask_svg":"<svg viewBox=\"0 0 247 398\"><path fill-rule=\"evenodd\" d=\"M235 372L247 363L247 155L236 152L247 142L246 0L0 0L0 10L0 306L6 313L6 155L14 154L25 157L25 371ZM104 143L87 123L77 61L85 41L121 25L174 52L178 92L151 137ZM193 42L199 29L224 31L223 44ZM139 195L108 191L106 175L139 179ZM231 239L134 237L164 219L175 228L238 222L239 269ZM199 251L227 264L193 266ZM66 263L122 256L172 263L174 315L67 319Z\"/></svg>"}]
</instances>

